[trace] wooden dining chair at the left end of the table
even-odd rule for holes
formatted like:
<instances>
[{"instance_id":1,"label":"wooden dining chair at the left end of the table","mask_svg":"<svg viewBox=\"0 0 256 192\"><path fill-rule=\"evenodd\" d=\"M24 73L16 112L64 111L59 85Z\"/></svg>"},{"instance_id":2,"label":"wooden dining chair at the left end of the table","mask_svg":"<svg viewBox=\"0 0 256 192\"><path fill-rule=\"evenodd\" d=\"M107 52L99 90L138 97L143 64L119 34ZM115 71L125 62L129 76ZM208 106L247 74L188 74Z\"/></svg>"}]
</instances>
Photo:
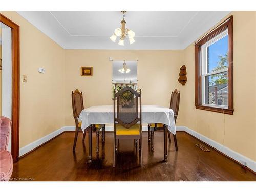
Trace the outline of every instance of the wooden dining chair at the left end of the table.
<instances>
[{"instance_id":1,"label":"wooden dining chair at the left end of the table","mask_svg":"<svg viewBox=\"0 0 256 192\"><path fill-rule=\"evenodd\" d=\"M78 132L81 129L82 121L79 119L79 115L81 111L84 109L83 107L83 98L82 98L82 92L79 90L75 90L74 92L72 91L71 94L72 97L72 108L73 108L73 116L75 119L75 124L76 124L76 130L75 130L75 139L74 139L74 144L73 144L73 151L76 149L76 141L77 141L77 136ZM104 124L92 124L92 129L96 131L96 138L97 138L97 148L96 151L99 151L99 131L102 129L102 142L105 142L105 125ZM82 142L84 142L84 139L86 138L86 130L84 130L83 137L82 137Z\"/></svg>"}]
</instances>

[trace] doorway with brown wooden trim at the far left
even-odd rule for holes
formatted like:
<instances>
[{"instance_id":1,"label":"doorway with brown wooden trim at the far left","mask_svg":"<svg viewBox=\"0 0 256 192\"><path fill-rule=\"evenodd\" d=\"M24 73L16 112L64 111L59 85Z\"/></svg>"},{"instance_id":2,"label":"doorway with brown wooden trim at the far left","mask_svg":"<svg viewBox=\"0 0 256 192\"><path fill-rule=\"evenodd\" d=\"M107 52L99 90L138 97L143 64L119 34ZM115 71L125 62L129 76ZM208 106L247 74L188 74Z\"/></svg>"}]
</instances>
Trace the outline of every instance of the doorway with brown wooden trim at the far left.
<instances>
[{"instance_id":1,"label":"doorway with brown wooden trim at the far left","mask_svg":"<svg viewBox=\"0 0 256 192\"><path fill-rule=\"evenodd\" d=\"M1 116L12 120L10 151L19 158L19 26L0 14L1 22Z\"/></svg>"}]
</instances>

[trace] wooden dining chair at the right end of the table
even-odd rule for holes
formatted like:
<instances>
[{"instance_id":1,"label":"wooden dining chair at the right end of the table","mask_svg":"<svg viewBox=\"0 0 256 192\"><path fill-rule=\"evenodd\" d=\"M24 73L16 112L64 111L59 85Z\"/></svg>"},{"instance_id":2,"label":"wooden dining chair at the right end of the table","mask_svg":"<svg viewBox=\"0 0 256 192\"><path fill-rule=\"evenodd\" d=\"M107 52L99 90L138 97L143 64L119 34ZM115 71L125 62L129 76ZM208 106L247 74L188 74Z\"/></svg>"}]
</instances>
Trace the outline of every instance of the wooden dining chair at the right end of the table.
<instances>
[{"instance_id":1,"label":"wooden dining chair at the right end of the table","mask_svg":"<svg viewBox=\"0 0 256 192\"><path fill-rule=\"evenodd\" d=\"M170 96L170 109L174 111L175 122L178 117L179 106L180 106L180 91L175 89L172 92L172 95ZM154 131L163 130L163 124L152 123L152 124L148 124L147 127L148 127L148 142L151 143L151 149L152 151L154 151ZM174 136L175 150L177 151L178 150L177 138L176 138L176 135L173 135L173 136ZM168 131L168 138L169 138L169 142L171 142L169 131Z\"/></svg>"}]
</instances>

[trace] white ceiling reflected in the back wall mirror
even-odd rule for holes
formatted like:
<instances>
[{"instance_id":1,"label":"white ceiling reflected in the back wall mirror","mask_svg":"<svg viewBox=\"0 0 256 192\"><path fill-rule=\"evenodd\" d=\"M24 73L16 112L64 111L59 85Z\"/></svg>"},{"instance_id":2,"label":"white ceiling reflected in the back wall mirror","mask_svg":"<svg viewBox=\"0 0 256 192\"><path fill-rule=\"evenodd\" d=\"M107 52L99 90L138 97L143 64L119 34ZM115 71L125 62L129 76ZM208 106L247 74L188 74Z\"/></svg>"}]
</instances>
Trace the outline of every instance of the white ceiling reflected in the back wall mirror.
<instances>
[{"instance_id":1,"label":"white ceiling reflected in the back wall mirror","mask_svg":"<svg viewBox=\"0 0 256 192\"><path fill-rule=\"evenodd\" d=\"M120 73L118 70L123 68L123 60L113 61L112 63L112 80L114 82L137 81L137 61L125 61L126 67L131 71L129 73Z\"/></svg>"}]
</instances>

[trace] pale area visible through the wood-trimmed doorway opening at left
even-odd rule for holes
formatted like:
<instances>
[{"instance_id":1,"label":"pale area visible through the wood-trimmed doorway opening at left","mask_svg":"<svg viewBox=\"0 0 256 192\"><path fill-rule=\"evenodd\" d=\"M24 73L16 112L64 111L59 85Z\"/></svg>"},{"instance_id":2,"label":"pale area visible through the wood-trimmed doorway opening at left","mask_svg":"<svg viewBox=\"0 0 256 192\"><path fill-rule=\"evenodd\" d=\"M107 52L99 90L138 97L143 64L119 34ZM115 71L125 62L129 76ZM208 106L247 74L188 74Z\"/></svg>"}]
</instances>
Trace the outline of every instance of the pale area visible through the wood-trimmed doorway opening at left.
<instances>
[{"instance_id":1,"label":"pale area visible through the wood-trimmed doorway opening at left","mask_svg":"<svg viewBox=\"0 0 256 192\"><path fill-rule=\"evenodd\" d=\"M0 116L12 118L12 32L0 22ZM8 144L11 151L11 133Z\"/></svg>"}]
</instances>

